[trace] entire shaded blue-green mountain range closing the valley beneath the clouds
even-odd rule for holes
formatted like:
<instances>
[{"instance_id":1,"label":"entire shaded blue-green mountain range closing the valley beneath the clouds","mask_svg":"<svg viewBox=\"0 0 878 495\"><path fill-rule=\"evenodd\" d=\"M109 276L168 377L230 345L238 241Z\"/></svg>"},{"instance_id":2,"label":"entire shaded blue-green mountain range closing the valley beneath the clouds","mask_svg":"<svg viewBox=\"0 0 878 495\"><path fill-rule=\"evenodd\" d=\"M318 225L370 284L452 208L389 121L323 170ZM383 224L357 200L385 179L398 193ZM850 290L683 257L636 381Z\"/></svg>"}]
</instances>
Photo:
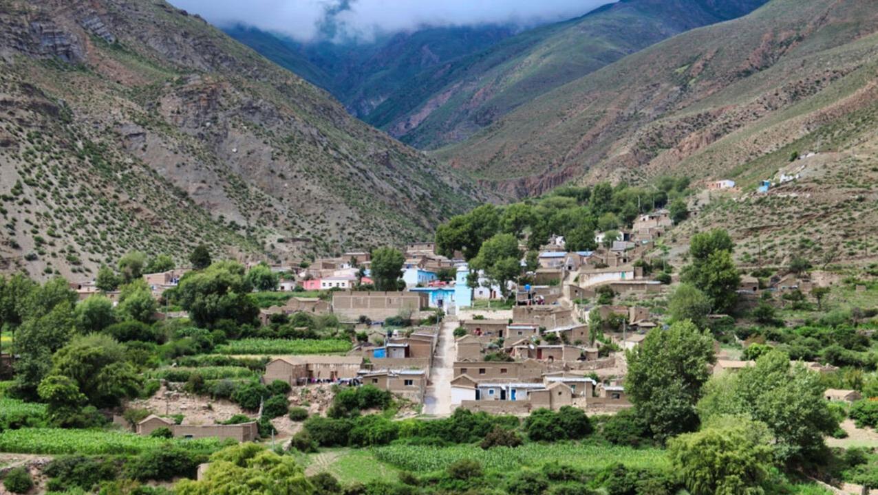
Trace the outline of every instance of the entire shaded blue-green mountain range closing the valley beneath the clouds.
<instances>
[{"instance_id":1,"label":"entire shaded blue-green mountain range closing the valley beneath the clouds","mask_svg":"<svg viewBox=\"0 0 878 495\"><path fill-rule=\"evenodd\" d=\"M628 54L765 2L622 0L524 32L425 27L370 44L302 44L241 26L226 31L332 92L356 117L414 147L434 149Z\"/></svg>"}]
</instances>

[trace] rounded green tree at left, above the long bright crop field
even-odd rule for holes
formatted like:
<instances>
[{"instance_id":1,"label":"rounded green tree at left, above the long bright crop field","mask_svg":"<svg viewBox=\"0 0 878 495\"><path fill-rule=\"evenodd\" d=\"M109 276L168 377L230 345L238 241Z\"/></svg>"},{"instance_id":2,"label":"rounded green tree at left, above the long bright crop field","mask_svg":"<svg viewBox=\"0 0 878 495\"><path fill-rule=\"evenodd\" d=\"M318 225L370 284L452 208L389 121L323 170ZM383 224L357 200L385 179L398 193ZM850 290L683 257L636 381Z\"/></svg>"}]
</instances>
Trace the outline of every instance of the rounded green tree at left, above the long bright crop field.
<instances>
[{"instance_id":1,"label":"rounded green tree at left, above the long bright crop field","mask_svg":"<svg viewBox=\"0 0 878 495\"><path fill-rule=\"evenodd\" d=\"M76 337L52 356L51 375L73 380L91 405L119 405L122 398L136 397L141 383L125 352L109 335Z\"/></svg>"}]
</instances>

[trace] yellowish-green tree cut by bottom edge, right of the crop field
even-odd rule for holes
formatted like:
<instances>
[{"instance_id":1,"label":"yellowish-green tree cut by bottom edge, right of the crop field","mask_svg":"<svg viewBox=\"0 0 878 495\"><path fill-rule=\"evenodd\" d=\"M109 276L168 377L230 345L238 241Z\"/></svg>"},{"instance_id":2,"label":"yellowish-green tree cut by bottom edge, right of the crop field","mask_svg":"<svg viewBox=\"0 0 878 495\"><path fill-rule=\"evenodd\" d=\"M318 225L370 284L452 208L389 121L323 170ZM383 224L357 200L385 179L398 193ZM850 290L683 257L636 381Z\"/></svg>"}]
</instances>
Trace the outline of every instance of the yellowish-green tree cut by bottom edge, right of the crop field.
<instances>
[{"instance_id":1,"label":"yellowish-green tree cut by bottom edge, right of the crop field","mask_svg":"<svg viewBox=\"0 0 878 495\"><path fill-rule=\"evenodd\" d=\"M668 442L668 455L692 495L759 495L772 467L764 424L725 418Z\"/></svg>"}]
</instances>

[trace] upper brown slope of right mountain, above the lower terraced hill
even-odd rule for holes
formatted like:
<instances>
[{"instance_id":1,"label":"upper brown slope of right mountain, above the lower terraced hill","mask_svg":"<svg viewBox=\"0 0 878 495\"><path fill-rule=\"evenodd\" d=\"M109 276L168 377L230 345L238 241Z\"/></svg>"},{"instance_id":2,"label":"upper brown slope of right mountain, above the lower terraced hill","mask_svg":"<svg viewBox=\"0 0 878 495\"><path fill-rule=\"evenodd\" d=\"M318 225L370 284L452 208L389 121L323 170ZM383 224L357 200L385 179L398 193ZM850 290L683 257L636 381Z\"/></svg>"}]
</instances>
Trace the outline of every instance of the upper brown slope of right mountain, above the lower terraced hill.
<instances>
[{"instance_id":1,"label":"upper brown slope of right mountain, above the lower terraced hill","mask_svg":"<svg viewBox=\"0 0 878 495\"><path fill-rule=\"evenodd\" d=\"M724 174L809 131L784 111L818 111L846 96L823 101L871 63L873 40L864 37L876 23L878 8L866 0L773 0L570 82L440 156L518 194L585 174ZM769 137L775 118L779 131ZM723 138L752 141L702 156Z\"/></svg>"}]
</instances>

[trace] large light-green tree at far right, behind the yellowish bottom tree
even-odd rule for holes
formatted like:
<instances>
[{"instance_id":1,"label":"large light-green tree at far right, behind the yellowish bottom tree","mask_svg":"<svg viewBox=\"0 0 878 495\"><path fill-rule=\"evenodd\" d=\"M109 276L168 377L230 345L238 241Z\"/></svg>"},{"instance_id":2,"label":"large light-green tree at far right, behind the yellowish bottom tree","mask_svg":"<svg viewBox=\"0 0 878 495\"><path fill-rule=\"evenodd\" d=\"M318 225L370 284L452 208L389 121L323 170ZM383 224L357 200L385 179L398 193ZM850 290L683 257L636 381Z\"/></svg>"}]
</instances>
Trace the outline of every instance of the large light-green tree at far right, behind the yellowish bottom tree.
<instances>
[{"instance_id":1,"label":"large light-green tree at far right, behind the yellowish bottom tree","mask_svg":"<svg viewBox=\"0 0 878 495\"><path fill-rule=\"evenodd\" d=\"M817 372L774 350L755 366L711 378L698 413L702 421L730 414L761 421L774 434L777 458L796 462L818 456L824 435L838 427L824 389Z\"/></svg>"}]
</instances>

